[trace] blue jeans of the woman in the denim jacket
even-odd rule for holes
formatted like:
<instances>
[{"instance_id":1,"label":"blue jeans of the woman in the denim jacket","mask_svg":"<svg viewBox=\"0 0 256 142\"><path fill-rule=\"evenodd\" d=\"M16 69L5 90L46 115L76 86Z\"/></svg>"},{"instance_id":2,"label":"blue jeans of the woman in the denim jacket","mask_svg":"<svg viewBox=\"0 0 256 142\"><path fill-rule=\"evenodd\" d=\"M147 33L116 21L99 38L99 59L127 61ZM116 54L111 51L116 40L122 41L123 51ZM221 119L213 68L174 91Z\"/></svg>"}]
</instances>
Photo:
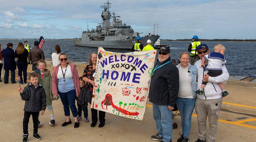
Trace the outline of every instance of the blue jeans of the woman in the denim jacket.
<instances>
[{"instance_id":1,"label":"blue jeans of the woman in the denim jacket","mask_svg":"<svg viewBox=\"0 0 256 142\"><path fill-rule=\"evenodd\" d=\"M181 116L181 127L183 137L188 138L191 128L191 116L195 108L196 98L180 98L178 97L176 105Z\"/></svg>"}]
</instances>

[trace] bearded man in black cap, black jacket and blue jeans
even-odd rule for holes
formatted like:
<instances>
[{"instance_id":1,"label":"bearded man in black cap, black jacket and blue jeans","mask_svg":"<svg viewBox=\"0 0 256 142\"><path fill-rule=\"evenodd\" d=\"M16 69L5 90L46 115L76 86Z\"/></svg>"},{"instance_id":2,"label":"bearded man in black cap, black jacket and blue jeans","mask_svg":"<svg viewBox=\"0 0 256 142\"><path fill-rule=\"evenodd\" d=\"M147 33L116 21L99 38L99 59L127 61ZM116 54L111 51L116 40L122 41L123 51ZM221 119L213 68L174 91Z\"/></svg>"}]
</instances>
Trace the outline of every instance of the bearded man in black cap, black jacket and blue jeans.
<instances>
[{"instance_id":1,"label":"bearded man in black cap, black jacket and blue jeans","mask_svg":"<svg viewBox=\"0 0 256 142\"><path fill-rule=\"evenodd\" d=\"M161 47L159 62L152 72L149 101L153 103L153 116L158 133L151 139L172 141L172 109L179 93L179 70L172 64L169 47Z\"/></svg>"}]
</instances>

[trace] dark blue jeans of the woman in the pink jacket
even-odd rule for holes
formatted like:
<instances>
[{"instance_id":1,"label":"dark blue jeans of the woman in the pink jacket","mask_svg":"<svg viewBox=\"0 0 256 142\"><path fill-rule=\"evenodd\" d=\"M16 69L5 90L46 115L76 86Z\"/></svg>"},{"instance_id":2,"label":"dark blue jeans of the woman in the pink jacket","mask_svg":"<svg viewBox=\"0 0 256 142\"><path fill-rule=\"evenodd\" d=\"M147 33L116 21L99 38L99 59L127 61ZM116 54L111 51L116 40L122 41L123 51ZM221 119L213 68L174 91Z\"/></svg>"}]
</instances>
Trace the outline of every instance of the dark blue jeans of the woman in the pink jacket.
<instances>
[{"instance_id":1,"label":"dark blue jeans of the woman in the pink jacket","mask_svg":"<svg viewBox=\"0 0 256 142\"><path fill-rule=\"evenodd\" d=\"M63 104L65 116L70 116L70 107L73 117L77 117L77 109L75 105L76 89L70 90L66 93L58 91L58 93L60 95L60 100Z\"/></svg>"}]
</instances>

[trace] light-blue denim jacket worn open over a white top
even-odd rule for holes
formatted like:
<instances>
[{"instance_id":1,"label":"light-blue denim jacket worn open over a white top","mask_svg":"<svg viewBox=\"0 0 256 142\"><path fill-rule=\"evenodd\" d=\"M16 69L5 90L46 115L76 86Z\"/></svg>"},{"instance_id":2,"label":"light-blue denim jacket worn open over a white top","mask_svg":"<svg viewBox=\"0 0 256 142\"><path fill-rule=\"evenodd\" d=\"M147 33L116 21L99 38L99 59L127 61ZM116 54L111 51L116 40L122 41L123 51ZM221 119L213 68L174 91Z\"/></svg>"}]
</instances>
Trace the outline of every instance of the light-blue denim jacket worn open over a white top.
<instances>
[{"instance_id":1,"label":"light-blue denim jacket worn open over a white top","mask_svg":"<svg viewBox=\"0 0 256 142\"><path fill-rule=\"evenodd\" d=\"M178 64L176 67L179 68L181 64ZM191 80L192 80L192 93L193 93L193 98L196 97L196 88L197 88L197 68L194 65L191 65L188 63L188 71L189 74L191 75Z\"/></svg>"}]
</instances>

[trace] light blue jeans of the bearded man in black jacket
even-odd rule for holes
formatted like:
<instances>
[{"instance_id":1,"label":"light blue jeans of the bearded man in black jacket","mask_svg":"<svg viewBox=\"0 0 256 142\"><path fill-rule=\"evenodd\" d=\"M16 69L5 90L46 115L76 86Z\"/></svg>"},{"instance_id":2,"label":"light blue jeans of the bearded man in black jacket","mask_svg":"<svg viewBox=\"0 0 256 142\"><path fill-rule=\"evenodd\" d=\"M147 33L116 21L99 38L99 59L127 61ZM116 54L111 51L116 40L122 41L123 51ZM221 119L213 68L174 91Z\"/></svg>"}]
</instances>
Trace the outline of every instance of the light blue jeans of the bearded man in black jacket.
<instances>
[{"instance_id":1,"label":"light blue jeans of the bearded man in black jacket","mask_svg":"<svg viewBox=\"0 0 256 142\"><path fill-rule=\"evenodd\" d=\"M164 142L172 140L172 110L168 105L156 105L153 103L153 116L156 121L156 129Z\"/></svg>"}]
</instances>

